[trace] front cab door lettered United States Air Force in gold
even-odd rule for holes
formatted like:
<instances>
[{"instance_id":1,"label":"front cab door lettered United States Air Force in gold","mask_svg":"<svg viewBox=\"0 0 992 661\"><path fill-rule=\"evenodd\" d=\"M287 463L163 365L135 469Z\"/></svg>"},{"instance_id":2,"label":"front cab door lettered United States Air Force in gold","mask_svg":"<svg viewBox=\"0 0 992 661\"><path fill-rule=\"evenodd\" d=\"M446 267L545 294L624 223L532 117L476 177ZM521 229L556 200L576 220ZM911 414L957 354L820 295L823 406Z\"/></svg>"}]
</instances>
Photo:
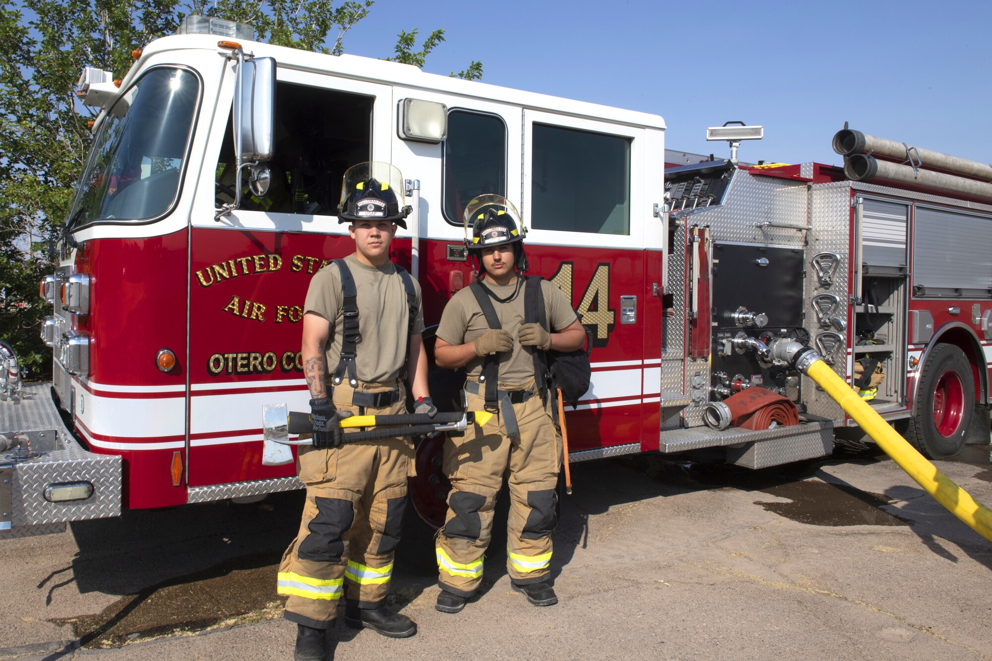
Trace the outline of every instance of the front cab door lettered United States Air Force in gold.
<instances>
[{"instance_id":1,"label":"front cab door lettered United States Air Force in gold","mask_svg":"<svg viewBox=\"0 0 992 661\"><path fill-rule=\"evenodd\" d=\"M279 66L269 191L244 189L241 208L214 220L234 186L229 72L191 218L192 488L295 474L293 463L262 465L262 406L307 410L300 347L310 278L325 260L354 250L336 217L341 178L352 165L391 157L388 85Z\"/></svg>"}]
</instances>

